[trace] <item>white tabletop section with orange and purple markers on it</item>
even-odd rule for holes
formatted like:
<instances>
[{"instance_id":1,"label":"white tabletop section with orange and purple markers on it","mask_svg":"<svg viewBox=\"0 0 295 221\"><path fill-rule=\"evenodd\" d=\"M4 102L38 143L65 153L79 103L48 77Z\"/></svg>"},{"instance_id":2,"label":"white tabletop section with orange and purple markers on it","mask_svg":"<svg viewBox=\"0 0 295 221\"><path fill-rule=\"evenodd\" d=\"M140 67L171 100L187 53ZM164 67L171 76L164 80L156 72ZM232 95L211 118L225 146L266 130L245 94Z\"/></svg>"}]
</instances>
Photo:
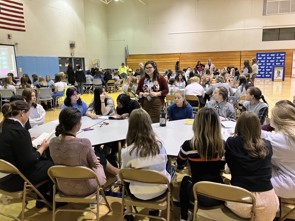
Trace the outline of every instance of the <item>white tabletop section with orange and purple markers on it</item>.
<instances>
[{"instance_id":1,"label":"white tabletop section with orange and purple markers on it","mask_svg":"<svg viewBox=\"0 0 295 221\"><path fill-rule=\"evenodd\" d=\"M102 127L95 125L92 127L94 130L82 131L81 133L77 134L77 137L88 138L92 145L105 144L126 139L128 131L128 119L104 120L103 122L107 122L109 125L104 125Z\"/></svg>"}]
</instances>

